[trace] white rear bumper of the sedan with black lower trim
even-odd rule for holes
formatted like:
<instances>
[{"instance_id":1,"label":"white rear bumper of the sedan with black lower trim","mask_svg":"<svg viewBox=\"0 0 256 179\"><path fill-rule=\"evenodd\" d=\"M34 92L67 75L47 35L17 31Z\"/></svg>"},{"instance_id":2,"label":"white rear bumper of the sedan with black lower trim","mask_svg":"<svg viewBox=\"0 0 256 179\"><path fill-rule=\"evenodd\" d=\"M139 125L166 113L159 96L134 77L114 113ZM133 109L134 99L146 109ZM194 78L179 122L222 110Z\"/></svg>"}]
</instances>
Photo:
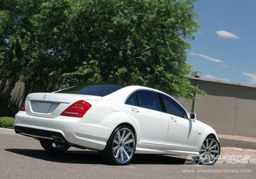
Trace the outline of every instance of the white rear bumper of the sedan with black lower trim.
<instances>
[{"instance_id":1,"label":"white rear bumper of the sedan with black lower trim","mask_svg":"<svg viewBox=\"0 0 256 179\"><path fill-rule=\"evenodd\" d=\"M46 118L19 111L15 116L16 133L38 140L52 140L70 146L103 150L115 124L75 117Z\"/></svg>"}]
</instances>

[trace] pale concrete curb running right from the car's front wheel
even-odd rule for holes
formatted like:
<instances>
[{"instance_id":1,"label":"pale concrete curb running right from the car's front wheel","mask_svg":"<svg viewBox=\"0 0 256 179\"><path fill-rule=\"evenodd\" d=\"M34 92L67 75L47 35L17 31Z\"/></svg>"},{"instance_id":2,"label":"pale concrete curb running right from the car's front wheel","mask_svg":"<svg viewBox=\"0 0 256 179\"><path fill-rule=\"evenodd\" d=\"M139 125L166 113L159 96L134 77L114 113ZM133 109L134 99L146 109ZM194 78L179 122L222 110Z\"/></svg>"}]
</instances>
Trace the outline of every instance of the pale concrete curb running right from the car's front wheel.
<instances>
[{"instance_id":1,"label":"pale concrete curb running right from the car's front wheel","mask_svg":"<svg viewBox=\"0 0 256 179\"><path fill-rule=\"evenodd\" d=\"M244 141L239 139L230 139L219 137L219 144L221 147L237 147L256 149L256 142Z\"/></svg>"}]
</instances>

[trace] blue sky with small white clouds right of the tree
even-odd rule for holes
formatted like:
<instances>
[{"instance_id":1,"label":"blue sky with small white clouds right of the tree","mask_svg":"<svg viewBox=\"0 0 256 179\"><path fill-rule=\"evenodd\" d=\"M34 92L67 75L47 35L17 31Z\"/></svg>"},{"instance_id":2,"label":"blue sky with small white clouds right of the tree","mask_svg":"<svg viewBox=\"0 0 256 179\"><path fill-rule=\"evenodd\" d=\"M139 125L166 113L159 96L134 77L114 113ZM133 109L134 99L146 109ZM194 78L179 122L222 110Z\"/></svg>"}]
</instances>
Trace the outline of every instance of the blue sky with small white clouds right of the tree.
<instances>
[{"instance_id":1,"label":"blue sky with small white clouds right of the tree","mask_svg":"<svg viewBox=\"0 0 256 179\"><path fill-rule=\"evenodd\" d=\"M256 0L199 0L188 63L200 78L256 85Z\"/></svg>"}]
</instances>

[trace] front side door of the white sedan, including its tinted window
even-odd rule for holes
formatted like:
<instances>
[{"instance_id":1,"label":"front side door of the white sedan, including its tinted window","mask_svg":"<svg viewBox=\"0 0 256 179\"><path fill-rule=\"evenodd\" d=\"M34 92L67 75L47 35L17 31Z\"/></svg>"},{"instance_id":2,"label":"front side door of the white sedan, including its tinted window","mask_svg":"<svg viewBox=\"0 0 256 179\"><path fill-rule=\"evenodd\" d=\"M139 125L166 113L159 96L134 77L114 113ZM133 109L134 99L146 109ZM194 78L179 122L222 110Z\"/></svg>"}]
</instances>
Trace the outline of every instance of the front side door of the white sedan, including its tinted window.
<instances>
[{"instance_id":1,"label":"front side door of the white sedan, including its tinted window","mask_svg":"<svg viewBox=\"0 0 256 179\"><path fill-rule=\"evenodd\" d=\"M160 94L170 121L165 149L192 151L197 139L197 124L188 118L183 107L167 95Z\"/></svg>"}]
</instances>

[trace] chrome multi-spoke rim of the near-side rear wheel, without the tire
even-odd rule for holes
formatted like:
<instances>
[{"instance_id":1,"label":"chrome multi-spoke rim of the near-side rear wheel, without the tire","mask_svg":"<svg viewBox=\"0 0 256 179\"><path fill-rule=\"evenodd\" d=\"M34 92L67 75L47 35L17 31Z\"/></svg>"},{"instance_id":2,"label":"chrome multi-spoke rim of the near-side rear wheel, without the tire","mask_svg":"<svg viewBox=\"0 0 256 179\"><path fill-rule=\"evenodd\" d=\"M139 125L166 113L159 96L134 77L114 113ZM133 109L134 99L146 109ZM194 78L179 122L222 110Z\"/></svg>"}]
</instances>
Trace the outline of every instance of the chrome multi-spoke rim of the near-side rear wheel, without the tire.
<instances>
[{"instance_id":1,"label":"chrome multi-spoke rim of the near-side rear wheel, without the tire","mask_svg":"<svg viewBox=\"0 0 256 179\"><path fill-rule=\"evenodd\" d=\"M113 155L118 163L126 163L133 156L134 146L133 132L128 128L117 131L112 145Z\"/></svg>"}]
</instances>

